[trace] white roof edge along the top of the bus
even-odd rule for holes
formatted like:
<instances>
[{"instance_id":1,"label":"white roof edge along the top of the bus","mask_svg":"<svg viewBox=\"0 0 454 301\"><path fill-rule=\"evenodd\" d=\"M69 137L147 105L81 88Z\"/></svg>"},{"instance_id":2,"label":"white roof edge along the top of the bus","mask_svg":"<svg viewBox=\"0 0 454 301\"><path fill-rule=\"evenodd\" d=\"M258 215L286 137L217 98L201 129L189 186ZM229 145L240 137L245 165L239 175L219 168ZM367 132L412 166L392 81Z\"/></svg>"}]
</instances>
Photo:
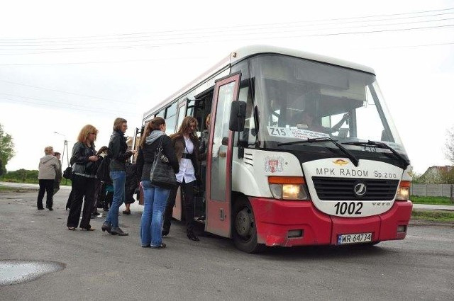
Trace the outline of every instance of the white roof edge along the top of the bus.
<instances>
[{"instance_id":1,"label":"white roof edge along the top of the bus","mask_svg":"<svg viewBox=\"0 0 454 301\"><path fill-rule=\"evenodd\" d=\"M177 92L175 92L171 96L167 97L164 101L157 103L157 105L153 106L152 109L146 111L143 114L143 118L144 119L148 118L150 116L150 114L153 113L157 108L164 106L166 103L174 100L175 98L181 97L183 93L185 93L192 87L196 86L197 84L200 84L201 82L205 81L211 75L216 74L217 72L221 71L222 69L224 69L228 66L231 66L233 64L236 64L236 62L246 59L247 57L251 57L253 55L259 55L259 54L266 54L266 53L288 55L290 57L301 57L302 59L309 59L309 60L315 61L315 62L323 62L326 64L333 64L333 65L336 65L339 67L346 67L349 69L356 69L359 71L375 74L374 69L372 69L370 67L364 66L362 64L356 64L354 62L348 62L343 59L336 59L334 57L327 57L324 55L317 55L317 54L311 53L311 52L292 50L292 49L284 48L284 47L276 47L276 46L270 46L270 45L250 45L250 46L240 47L237 50L234 50L233 52L231 52L230 55L223 58L220 62L215 64L213 67L208 69L206 72L204 72L200 76L197 76L196 79L191 81L189 84L184 86L182 89L179 89Z\"/></svg>"}]
</instances>

